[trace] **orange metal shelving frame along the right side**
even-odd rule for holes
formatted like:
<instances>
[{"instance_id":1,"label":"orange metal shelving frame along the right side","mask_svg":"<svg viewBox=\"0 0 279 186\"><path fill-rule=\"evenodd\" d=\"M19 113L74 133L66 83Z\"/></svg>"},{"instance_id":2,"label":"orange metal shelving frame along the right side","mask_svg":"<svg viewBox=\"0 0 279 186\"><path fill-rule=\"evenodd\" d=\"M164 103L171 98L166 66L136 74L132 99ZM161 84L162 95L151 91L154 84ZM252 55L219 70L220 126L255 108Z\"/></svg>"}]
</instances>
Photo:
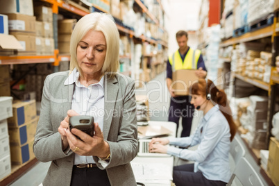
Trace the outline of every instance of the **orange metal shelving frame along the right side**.
<instances>
[{"instance_id":1,"label":"orange metal shelving frame along the right side","mask_svg":"<svg viewBox=\"0 0 279 186\"><path fill-rule=\"evenodd\" d=\"M278 73L273 73L276 70L275 62L276 56L279 55L279 23L277 20L278 12L275 11L275 15L273 18L273 24L270 26L266 26L264 28L259 28L256 31L251 31L245 33L244 35L240 35L239 37L232 37L228 40L224 40L219 44L220 48L228 47L228 46L235 46L235 44L243 43L243 42L250 42L254 40L259 40L264 37L270 37L272 43L272 62L271 62L271 78L270 83L265 83L263 81L248 78L247 76L242 76L240 74L235 74L234 78L238 78L246 83L250 83L251 85L255 85L256 87L260 87L262 90L266 90L269 95L269 103L268 103L268 115L267 115L267 140L266 146L269 146L269 138L271 137L271 128L272 128L272 117L275 113L275 104L276 104L276 85L279 83L279 75ZM225 59L223 59L225 61ZM227 60L226 62L230 62ZM242 131L242 130L239 130ZM241 133L241 132L240 132ZM251 149L248 142L244 140L246 146L248 147L251 155L255 158L255 162L260 164L260 150L259 149ZM267 175L264 169L261 168L260 170L262 175ZM267 178L268 176L264 176ZM267 178L269 182L271 182L270 178ZM272 183L271 183L272 184Z\"/></svg>"}]
</instances>

